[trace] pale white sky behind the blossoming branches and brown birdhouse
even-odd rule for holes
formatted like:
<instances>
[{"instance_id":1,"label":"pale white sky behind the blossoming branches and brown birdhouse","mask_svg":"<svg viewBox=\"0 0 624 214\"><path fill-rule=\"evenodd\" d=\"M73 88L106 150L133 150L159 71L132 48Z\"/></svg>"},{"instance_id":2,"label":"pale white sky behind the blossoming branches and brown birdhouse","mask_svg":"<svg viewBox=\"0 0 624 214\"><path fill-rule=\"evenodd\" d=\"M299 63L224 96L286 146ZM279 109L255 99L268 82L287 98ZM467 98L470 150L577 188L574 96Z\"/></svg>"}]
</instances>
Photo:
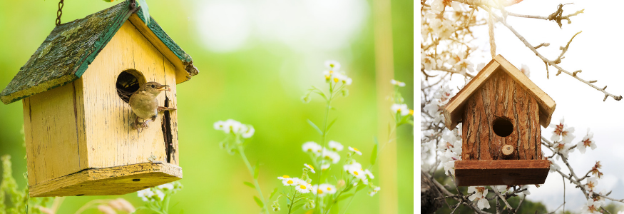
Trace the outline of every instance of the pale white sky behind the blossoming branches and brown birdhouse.
<instances>
[{"instance_id":1,"label":"pale white sky behind the blossoming branches and brown birdhouse","mask_svg":"<svg viewBox=\"0 0 624 214\"><path fill-rule=\"evenodd\" d=\"M525 0L514 6L509 6L507 11L516 14L530 14L548 16L556 11L557 5L568 1L531 1ZM550 43L551 46L543 47L538 51L546 58L553 60L561 51L559 46L566 46L569 39L578 31L583 33L573 40L566 58L559 65L567 71L583 70L578 73L585 80L598 80L596 86L608 86L606 91L615 95L624 95L624 75L622 62L624 54L620 52L624 48L623 35L620 29L620 17L624 8L623 1L574 1L574 4L563 7L563 14L571 14L580 9L585 9L583 14L573 16L572 24L563 21L563 29L559 29L554 21L543 19L526 19L508 16L507 22L511 24L533 46L541 43ZM483 12L484 13L484 12ZM487 63L489 55L488 34L486 27L476 29L475 35L479 37L478 44L486 58L474 58L476 65L481 62ZM420 36L420 34L415 34ZM612 198L624 198L624 143L621 138L624 134L624 106L623 101L614 101L608 98L603 102L603 93L585 85L575 78L566 74L555 76L556 70L549 68L550 79L546 78L546 67L540 58L514 36L502 24L497 24L495 29L496 54L501 54L514 66L520 68L526 64L531 69L531 81L536 83L543 91L548 93L557 103L551 123L557 123L562 117L566 118L566 124L576 128L573 143L578 143L587 128L594 133L594 140L598 145L594 151L588 150L581 154L578 150L571 153L570 163L579 176L585 175L591 169L595 161L601 161L604 177L598 180L598 190L613 190ZM419 39L419 37L416 37ZM463 85L463 81L456 78L456 85ZM451 86L455 88L455 85ZM456 93L457 90L454 90ZM553 128L542 128L542 133L550 138ZM550 155L546 151L546 155ZM566 169L563 162L558 162L561 168ZM564 170L567 171L567 170ZM584 182L583 182L584 183ZM563 203L563 180L558 173L550 173L546 183L541 188L532 186L531 195L528 199L545 203L549 211ZM566 183L566 210L579 212L580 207L586 202L583 193L574 188L569 181ZM611 203L607 200L607 203ZM561 211L561 210L558 210Z\"/></svg>"}]
</instances>

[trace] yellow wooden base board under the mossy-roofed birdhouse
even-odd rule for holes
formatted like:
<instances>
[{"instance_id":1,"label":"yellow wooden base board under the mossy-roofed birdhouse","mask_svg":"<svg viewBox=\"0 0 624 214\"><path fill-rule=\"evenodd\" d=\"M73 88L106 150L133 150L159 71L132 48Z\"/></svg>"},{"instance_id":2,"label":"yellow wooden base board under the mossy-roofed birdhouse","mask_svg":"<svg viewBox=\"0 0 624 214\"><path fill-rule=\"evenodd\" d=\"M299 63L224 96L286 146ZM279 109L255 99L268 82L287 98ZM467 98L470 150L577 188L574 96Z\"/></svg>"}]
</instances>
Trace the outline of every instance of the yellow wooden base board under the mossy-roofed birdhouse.
<instances>
[{"instance_id":1,"label":"yellow wooden base board under the mossy-roofed birdhouse","mask_svg":"<svg viewBox=\"0 0 624 214\"><path fill-rule=\"evenodd\" d=\"M137 163L89 168L32 185L30 197L123 195L182 178L182 168L170 163Z\"/></svg>"}]
</instances>

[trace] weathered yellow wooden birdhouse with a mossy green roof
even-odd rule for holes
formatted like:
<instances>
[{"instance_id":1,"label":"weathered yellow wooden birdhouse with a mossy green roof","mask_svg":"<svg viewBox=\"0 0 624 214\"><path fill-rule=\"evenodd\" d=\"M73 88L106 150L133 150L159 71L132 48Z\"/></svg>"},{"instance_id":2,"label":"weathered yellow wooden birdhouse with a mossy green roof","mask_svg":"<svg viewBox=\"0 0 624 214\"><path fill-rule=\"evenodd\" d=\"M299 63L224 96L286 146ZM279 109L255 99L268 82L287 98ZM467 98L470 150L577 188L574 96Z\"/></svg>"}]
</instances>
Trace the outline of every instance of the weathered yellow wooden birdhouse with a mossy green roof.
<instances>
[{"instance_id":1,"label":"weathered yellow wooden birdhouse with a mossy green roof","mask_svg":"<svg viewBox=\"0 0 624 214\"><path fill-rule=\"evenodd\" d=\"M193 61L130 1L61 24L0 93L24 105L31 197L120 195L182 178L177 111L139 132L128 96L169 85L159 106L178 107L176 83Z\"/></svg>"}]
</instances>

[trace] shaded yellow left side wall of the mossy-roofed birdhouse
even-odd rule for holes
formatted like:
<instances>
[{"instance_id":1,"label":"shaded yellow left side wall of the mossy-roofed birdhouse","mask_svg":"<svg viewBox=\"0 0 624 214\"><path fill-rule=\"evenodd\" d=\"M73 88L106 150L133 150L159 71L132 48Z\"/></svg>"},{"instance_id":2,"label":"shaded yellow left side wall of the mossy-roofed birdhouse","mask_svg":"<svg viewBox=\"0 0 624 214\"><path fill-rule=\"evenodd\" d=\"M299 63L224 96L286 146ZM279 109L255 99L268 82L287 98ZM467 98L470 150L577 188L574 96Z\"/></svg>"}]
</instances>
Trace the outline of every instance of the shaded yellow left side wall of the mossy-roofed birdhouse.
<instances>
[{"instance_id":1,"label":"shaded yellow left side wall of the mossy-roofed birdhouse","mask_svg":"<svg viewBox=\"0 0 624 214\"><path fill-rule=\"evenodd\" d=\"M76 123L81 105L74 83L25 98L23 103L29 184L87 168L86 153L80 149L83 129Z\"/></svg>"}]
</instances>

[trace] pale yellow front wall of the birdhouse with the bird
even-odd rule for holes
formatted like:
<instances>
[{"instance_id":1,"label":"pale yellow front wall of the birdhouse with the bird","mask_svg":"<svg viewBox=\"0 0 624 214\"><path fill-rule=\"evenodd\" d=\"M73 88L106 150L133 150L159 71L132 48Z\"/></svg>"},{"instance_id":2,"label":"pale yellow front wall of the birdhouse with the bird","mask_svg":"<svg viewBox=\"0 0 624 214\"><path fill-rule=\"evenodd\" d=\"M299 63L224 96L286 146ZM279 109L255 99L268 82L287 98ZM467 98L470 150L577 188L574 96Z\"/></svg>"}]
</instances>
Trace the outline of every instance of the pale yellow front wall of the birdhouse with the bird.
<instances>
[{"instance_id":1,"label":"pale yellow front wall of the birdhouse with the bird","mask_svg":"<svg viewBox=\"0 0 624 214\"><path fill-rule=\"evenodd\" d=\"M146 81L166 83L168 80L175 93L173 77L165 78L166 63L169 63L168 60L150 41L126 21L88 68L93 71L81 77L89 168L145 163L150 156L155 157L153 161L166 162L161 128L163 113L159 113L158 118L143 131L133 130L130 124L135 115L128 103L123 102L116 93L117 77L128 69L142 73ZM165 106L165 94L160 93L158 96L159 106ZM170 100L175 103L175 96Z\"/></svg>"}]
</instances>

